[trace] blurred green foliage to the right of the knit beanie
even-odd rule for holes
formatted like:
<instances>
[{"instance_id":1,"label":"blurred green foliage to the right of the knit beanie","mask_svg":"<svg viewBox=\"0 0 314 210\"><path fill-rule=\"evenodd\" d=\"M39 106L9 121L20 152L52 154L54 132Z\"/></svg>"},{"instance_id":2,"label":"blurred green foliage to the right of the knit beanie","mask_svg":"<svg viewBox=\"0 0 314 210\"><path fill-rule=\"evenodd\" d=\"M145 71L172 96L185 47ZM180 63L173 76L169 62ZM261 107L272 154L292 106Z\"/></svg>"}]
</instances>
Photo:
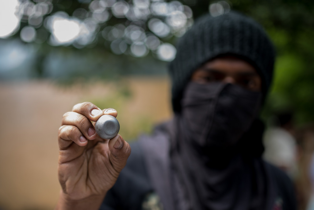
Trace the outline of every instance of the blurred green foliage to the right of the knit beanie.
<instances>
[{"instance_id":1,"label":"blurred green foliage to the right of the knit beanie","mask_svg":"<svg viewBox=\"0 0 314 210\"><path fill-rule=\"evenodd\" d=\"M264 117L289 109L295 123L314 121L314 2L232 1L233 8L264 26L277 50L273 88Z\"/></svg>"}]
</instances>

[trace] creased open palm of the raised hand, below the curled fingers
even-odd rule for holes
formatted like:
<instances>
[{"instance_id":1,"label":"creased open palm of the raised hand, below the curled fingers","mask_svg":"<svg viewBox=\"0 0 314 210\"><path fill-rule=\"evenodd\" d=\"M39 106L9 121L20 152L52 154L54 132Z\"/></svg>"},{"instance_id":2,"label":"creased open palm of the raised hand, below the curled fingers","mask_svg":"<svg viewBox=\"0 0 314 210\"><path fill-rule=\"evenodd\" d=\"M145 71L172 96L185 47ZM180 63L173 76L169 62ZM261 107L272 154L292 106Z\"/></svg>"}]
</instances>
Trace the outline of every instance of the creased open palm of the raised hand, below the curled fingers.
<instances>
[{"instance_id":1,"label":"creased open palm of the raised hand, below the curled fingers","mask_svg":"<svg viewBox=\"0 0 314 210\"><path fill-rule=\"evenodd\" d=\"M72 142L64 152L60 150L59 180L73 199L104 194L116 182L124 164L112 160L108 142L98 137L84 147Z\"/></svg>"}]
</instances>

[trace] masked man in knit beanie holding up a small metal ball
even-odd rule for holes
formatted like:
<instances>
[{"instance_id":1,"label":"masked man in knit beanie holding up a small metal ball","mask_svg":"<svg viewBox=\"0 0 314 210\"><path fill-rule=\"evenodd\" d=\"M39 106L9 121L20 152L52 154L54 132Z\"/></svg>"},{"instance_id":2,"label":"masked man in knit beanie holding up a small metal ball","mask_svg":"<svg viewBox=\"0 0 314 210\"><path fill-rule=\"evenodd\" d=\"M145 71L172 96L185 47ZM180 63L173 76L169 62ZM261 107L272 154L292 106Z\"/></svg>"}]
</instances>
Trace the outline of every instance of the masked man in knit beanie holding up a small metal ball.
<instances>
[{"instance_id":1,"label":"masked man in knit beanie holding up a small metal ball","mask_svg":"<svg viewBox=\"0 0 314 210\"><path fill-rule=\"evenodd\" d=\"M289 178L261 159L258 114L273 63L254 20L196 21L169 66L174 119L131 155L120 135L100 139L90 122L116 110L85 102L63 116L57 209L295 209Z\"/></svg>"}]
</instances>

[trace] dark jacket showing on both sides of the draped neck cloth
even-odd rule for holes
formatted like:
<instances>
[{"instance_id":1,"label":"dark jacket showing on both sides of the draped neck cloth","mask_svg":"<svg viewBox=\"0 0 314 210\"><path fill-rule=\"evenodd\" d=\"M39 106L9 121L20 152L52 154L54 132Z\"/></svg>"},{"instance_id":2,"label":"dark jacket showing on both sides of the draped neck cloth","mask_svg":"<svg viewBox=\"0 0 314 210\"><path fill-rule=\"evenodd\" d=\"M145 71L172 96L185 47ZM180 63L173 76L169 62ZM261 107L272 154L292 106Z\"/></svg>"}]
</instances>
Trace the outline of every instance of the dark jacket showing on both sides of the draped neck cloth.
<instances>
[{"instance_id":1,"label":"dark jacket showing on both sides of the draped neck cloth","mask_svg":"<svg viewBox=\"0 0 314 210\"><path fill-rule=\"evenodd\" d=\"M144 140L145 137L141 139L141 141ZM165 195L157 195L156 189L153 187L152 180L147 170L147 161L144 158L141 141L131 144L132 152L127 160L127 165L119 175L116 184L107 193L100 207L101 210L162 209L160 208L162 205L162 199L160 199L160 197L165 199ZM166 140L163 139L161 141L165 142ZM161 143L161 145L163 145L163 143ZM154 155L154 153L151 153L151 155ZM275 183L274 188L276 196L273 209L295 210L295 192L290 178L275 166L267 162L264 163L271 175L273 183ZM156 164L157 168L159 166L159 164ZM167 195L167 193L165 194Z\"/></svg>"}]
</instances>

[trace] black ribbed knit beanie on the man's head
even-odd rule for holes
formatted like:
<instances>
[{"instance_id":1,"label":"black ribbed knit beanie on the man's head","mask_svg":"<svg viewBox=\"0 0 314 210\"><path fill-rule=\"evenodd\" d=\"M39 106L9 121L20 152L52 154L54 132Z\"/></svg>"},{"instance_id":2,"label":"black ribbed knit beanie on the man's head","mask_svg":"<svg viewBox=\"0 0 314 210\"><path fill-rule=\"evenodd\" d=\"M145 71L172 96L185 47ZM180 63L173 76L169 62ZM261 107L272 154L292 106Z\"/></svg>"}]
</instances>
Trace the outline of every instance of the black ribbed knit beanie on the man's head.
<instances>
[{"instance_id":1,"label":"black ribbed knit beanie on the man's head","mask_svg":"<svg viewBox=\"0 0 314 210\"><path fill-rule=\"evenodd\" d=\"M193 71L221 55L235 55L252 64L262 78L265 98L275 52L262 26L253 19L234 11L217 17L207 14L179 39L176 49L176 58L169 64L174 112L181 111L182 93Z\"/></svg>"}]
</instances>

